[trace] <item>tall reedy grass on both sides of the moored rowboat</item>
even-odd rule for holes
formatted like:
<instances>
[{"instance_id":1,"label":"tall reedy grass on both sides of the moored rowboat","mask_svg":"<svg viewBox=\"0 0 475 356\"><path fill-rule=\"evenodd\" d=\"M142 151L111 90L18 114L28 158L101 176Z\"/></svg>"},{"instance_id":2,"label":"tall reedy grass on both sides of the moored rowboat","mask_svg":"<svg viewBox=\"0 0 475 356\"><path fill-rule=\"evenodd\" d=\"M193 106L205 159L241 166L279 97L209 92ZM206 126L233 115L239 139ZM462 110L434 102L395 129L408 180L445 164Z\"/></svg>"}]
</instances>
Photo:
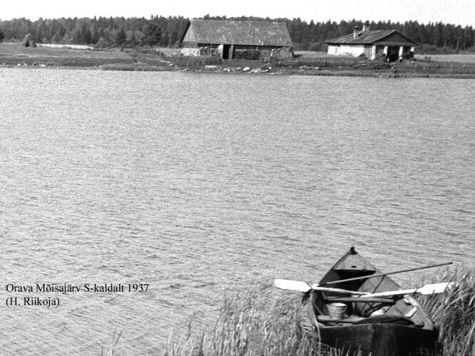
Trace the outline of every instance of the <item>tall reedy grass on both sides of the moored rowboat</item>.
<instances>
[{"instance_id":1,"label":"tall reedy grass on both sides of the moored rowboat","mask_svg":"<svg viewBox=\"0 0 475 356\"><path fill-rule=\"evenodd\" d=\"M422 298L439 328L438 355L475 355L475 268L446 274L456 288ZM301 295L254 283L225 296L206 330L172 335L165 355L347 355L325 348L307 327Z\"/></svg>"}]
</instances>

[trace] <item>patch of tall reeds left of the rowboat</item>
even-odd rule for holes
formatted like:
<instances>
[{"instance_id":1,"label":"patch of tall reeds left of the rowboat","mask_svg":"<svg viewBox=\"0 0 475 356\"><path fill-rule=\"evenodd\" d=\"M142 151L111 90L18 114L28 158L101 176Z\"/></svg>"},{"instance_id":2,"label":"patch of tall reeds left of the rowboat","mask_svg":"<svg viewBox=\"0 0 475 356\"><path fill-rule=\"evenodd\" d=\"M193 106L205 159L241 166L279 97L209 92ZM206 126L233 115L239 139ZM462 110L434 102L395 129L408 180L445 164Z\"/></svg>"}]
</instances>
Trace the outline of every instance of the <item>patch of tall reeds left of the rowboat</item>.
<instances>
[{"instance_id":1,"label":"patch of tall reeds left of the rowboat","mask_svg":"<svg viewBox=\"0 0 475 356\"><path fill-rule=\"evenodd\" d=\"M253 283L226 295L213 325L170 339L165 355L347 355L320 345L297 293Z\"/></svg>"}]
</instances>

